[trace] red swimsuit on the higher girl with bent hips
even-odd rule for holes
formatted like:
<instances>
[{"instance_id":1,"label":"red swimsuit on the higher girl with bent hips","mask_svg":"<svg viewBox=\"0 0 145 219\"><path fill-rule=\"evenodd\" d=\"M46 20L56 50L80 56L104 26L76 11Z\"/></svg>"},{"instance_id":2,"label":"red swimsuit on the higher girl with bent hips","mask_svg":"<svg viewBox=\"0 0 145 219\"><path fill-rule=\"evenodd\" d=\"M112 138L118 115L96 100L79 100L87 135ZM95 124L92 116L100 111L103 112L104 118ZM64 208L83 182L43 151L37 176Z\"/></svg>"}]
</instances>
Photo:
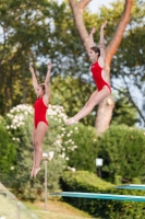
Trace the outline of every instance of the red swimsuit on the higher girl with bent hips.
<instances>
[{"instance_id":1,"label":"red swimsuit on the higher girl with bent hips","mask_svg":"<svg viewBox=\"0 0 145 219\"><path fill-rule=\"evenodd\" d=\"M107 85L108 89L110 90L110 93L111 93L110 85L102 78L104 68L101 68L99 66L98 61L92 65L92 69L90 70L92 70L93 78L94 78L94 81L96 83L96 87L97 87L98 91L100 91L104 88L104 85Z\"/></svg>"}]
</instances>

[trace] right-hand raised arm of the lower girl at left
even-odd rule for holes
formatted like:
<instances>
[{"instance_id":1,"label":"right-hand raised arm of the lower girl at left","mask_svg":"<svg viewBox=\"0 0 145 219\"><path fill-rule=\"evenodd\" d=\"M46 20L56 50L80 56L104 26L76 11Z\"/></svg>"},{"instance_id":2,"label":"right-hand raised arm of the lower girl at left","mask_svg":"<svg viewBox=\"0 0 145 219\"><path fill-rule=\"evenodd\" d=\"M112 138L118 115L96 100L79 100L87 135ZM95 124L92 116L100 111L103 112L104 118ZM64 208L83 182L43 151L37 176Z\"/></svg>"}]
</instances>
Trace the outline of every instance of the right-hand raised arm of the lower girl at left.
<instances>
[{"instance_id":1,"label":"right-hand raised arm of the lower girl at left","mask_svg":"<svg viewBox=\"0 0 145 219\"><path fill-rule=\"evenodd\" d=\"M45 80L45 95L44 95L44 101L45 103L48 105L49 103L49 99L50 99L50 88L49 88L49 82L50 82L50 72L51 72L51 68L52 68L52 64L51 61L48 64L47 66L47 76L46 76L46 80Z\"/></svg>"}]
</instances>

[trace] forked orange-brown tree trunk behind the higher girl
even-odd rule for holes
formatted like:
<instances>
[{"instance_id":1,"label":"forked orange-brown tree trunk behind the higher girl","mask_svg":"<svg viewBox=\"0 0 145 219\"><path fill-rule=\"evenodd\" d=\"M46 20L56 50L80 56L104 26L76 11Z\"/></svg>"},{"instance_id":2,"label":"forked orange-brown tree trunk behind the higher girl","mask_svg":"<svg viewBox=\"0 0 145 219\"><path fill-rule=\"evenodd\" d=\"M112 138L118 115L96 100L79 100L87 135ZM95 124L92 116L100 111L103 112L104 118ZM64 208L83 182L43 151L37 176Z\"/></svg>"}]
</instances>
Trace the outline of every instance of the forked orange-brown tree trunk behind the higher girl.
<instances>
[{"instance_id":1,"label":"forked orange-brown tree trunk behind the higher girl","mask_svg":"<svg viewBox=\"0 0 145 219\"><path fill-rule=\"evenodd\" d=\"M88 45L88 33L86 31L83 21L83 10L88 4L88 2L90 2L90 0L80 0L78 2L76 0L70 0L70 5L74 16L74 23L86 51L88 51L89 45ZM121 43L125 26L130 20L132 4L133 0L125 0L124 10L120 18L119 24L106 49L106 79L108 82L110 82L111 60ZM114 107L114 101L112 95L110 95L108 99L104 100L99 104L95 123L97 132L99 135L102 134L105 130L107 130L107 128L109 127L113 107Z\"/></svg>"}]
</instances>

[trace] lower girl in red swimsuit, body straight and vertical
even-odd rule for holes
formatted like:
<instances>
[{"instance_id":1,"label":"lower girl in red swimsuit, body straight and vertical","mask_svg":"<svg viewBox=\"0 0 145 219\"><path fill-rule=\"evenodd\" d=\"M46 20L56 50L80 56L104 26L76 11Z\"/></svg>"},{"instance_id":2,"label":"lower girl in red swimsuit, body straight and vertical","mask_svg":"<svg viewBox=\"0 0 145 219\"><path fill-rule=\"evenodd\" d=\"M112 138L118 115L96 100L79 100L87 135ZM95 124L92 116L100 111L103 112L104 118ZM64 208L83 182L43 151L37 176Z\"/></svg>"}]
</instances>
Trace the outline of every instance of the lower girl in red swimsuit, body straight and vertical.
<instances>
[{"instance_id":1,"label":"lower girl in red swimsuit, body straight and vertical","mask_svg":"<svg viewBox=\"0 0 145 219\"><path fill-rule=\"evenodd\" d=\"M31 177L35 177L40 170L40 161L43 158L43 141L48 129L48 122L46 119L46 112L48 110L50 90L50 71L52 64L48 65L48 71L46 76L45 83L38 84L33 67L29 67L33 78L33 87L37 95L37 100L34 104L34 128L33 128L33 168L31 172Z\"/></svg>"}]
</instances>

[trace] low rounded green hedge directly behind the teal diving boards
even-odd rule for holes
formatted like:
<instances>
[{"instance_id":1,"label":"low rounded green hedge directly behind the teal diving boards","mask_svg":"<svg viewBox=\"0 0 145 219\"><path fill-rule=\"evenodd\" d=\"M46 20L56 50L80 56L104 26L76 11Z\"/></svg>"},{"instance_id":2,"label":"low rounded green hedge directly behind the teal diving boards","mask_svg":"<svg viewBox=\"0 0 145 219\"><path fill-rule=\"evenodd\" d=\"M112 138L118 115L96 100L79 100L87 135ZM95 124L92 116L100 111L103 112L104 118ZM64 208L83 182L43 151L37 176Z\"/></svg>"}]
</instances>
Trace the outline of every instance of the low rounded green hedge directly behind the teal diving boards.
<instances>
[{"instance_id":1,"label":"low rounded green hedge directly behind the teal diving boards","mask_svg":"<svg viewBox=\"0 0 145 219\"><path fill-rule=\"evenodd\" d=\"M145 195L145 192L141 191L116 189L112 184L86 171L64 172L61 177L61 187L64 192ZM71 197L63 197L63 199L97 219L145 218L144 203Z\"/></svg>"}]
</instances>

